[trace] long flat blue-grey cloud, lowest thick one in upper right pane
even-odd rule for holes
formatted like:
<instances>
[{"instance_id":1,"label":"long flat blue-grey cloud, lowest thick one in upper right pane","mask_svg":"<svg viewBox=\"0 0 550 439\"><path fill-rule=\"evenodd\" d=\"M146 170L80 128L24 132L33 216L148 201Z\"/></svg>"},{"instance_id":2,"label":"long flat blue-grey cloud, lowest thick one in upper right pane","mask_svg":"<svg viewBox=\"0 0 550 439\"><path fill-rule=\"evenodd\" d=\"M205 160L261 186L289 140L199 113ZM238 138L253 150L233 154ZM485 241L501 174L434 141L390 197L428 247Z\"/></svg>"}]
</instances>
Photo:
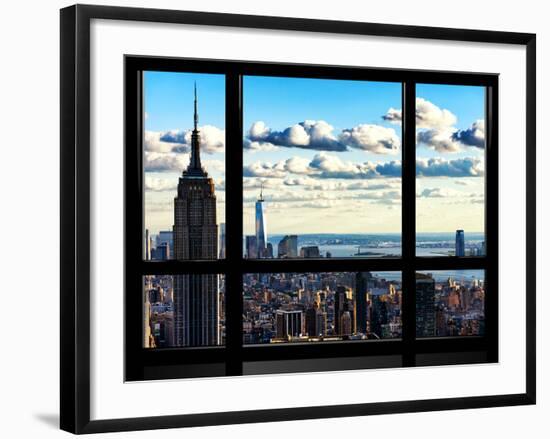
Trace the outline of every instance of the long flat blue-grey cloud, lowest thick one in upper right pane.
<instances>
[{"instance_id":1,"label":"long flat blue-grey cloud, lowest thick one in upper right pane","mask_svg":"<svg viewBox=\"0 0 550 439\"><path fill-rule=\"evenodd\" d=\"M484 163L477 157L445 160L442 158L417 159L416 175L419 177L483 177Z\"/></svg>"}]
</instances>

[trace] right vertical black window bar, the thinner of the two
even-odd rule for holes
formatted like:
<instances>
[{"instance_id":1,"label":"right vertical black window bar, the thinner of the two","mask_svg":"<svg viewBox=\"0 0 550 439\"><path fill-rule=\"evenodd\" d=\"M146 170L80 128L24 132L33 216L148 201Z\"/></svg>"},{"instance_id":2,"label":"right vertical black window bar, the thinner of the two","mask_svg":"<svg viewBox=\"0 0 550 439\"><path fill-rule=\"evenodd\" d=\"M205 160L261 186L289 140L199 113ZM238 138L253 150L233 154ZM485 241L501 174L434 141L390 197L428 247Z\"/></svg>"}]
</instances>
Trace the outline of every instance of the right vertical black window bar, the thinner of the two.
<instances>
[{"instance_id":1,"label":"right vertical black window bar, the thinner of the two","mask_svg":"<svg viewBox=\"0 0 550 439\"><path fill-rule=\"evenodd\" d=\"M402 93L402 327L403 366L415 365L416 336L416 83L405 81Z\"/></svg>"}]
</instances>

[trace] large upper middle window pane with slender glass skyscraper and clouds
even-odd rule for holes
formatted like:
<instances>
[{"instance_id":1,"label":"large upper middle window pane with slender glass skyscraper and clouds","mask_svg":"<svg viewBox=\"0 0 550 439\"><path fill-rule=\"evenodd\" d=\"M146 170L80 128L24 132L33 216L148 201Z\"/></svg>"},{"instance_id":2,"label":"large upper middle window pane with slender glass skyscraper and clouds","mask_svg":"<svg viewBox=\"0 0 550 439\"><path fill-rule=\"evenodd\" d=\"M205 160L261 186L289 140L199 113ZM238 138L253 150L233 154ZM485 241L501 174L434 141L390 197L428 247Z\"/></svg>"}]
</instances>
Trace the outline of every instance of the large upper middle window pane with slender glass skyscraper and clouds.
<instances>
[{"instance_id":1,"label":"large upper middle window pane with slender glass skyscraper and clouds","mask_svg":"<svg viewBox=\"0 0 550 439\"><path fill-rule=\"evenodd\" d=\"M401 255L401 83L244 78L243 254Z\"/></svg>"}]
</instances>

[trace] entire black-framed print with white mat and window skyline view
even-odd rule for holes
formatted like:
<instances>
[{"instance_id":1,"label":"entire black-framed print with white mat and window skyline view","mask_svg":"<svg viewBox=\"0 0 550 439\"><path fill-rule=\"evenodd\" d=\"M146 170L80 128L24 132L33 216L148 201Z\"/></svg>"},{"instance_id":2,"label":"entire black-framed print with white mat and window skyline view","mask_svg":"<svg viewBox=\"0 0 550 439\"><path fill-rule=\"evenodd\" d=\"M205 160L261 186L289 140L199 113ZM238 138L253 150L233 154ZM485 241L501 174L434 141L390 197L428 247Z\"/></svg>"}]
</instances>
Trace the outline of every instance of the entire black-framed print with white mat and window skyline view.
<instances>
[{"instance_id":1,"label":"entire black-framed print with white mat and window skyline view","mask_svg":"<svg viewBox=\"0 0 550 439\"><path fill-rule=\"evenodd\" d=\"M78 5L61 55L64 430L535 403L534 35Z\"/></svg>"}]
</instances>

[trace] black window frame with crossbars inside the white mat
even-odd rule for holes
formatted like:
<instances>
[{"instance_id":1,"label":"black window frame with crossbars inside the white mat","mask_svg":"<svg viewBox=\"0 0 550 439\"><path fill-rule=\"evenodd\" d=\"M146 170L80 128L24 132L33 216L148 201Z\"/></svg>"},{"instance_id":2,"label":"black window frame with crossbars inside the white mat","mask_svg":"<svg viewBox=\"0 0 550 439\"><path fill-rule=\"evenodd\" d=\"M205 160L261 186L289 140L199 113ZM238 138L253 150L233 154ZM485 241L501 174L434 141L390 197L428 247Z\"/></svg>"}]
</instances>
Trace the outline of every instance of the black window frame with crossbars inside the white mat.
<instances>
[{"instance_id":1,"label":"black window frame with crossbars inside the white mat","mask_svg":"<svg viewBox=\"0 0 550 439\"><path fill-rule=\"evenodd\" d=\"M127 381L235 376L250 373L345 370L368 367L498 361L498 75L487 73L382 69L188 58L125 56L125 379ZM197 261L144 261L143 253L143 84L146 70L225 75L226 258ZM402 254L399 258L246 259L243 239L243 76L351 79L402 83ZM417 83L480 85L485 93L485 242L484 256L416 256ZM406 184L408 182L408 184ZM137 219L137 220L136 220ZM485 335L416 338L415 274L442 269L484 269ZM401 339L304 344L244 345L242 275L255 272L400 271ZM211 347L148 349L142 346L143 275L220 273L226 276L226 344ZM234 292L233 294L231 292ZM131 292L131 293L130 293ZM456 354L459 355L456 355ZM335 358L339 359L335 365ZM395 360L398 360L397 363ZM360 360L360 361L357 361ZM364 361L363 361L364 360ZM372 360L369 362L369 360ZM259 371L259 372L258 372Z\"/></svg>"}]
</instances>

